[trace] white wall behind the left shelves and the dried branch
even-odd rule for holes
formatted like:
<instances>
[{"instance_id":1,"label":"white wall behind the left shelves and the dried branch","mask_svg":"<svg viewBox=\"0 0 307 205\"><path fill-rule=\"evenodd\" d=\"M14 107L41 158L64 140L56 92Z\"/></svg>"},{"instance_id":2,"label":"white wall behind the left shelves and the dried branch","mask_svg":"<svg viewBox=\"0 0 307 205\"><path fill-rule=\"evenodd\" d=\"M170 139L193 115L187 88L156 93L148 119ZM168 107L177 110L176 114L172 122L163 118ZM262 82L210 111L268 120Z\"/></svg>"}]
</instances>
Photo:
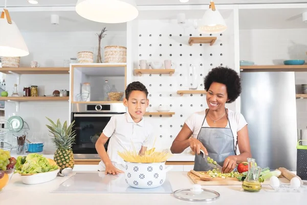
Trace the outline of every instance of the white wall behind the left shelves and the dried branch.
<instances>
[{"instance_id":1,"label":"white wall behind the left shelves and the dried branch","mask_svg":"<svg viewBox=\"0 0 307 205\"><path fill-rule=\"evenodd\" d=\"M98 32L23 33L30 55L20 58L20 67L30 67L31 60L38 61L40 67L63 67L64 59L77 57L79 51L96 53L98 48L96 33ZM104 46L126 46L126 32L107 31L106 33L107 36L101 42L102 55ZM9 96L12 94L15 83L16 78L13 75L6 75L6 90L8 90ZM69 75L21 75L20 85L18 85L19 95L23 95L25 86L31 85L38 86L39 95L49 95L54 90L69 90ZM6 102L5 117L8 118L13 113L15 113L15 104ZM34 133L35 137L46 142L44 149L52 149L53 144L49 140L46 127L49 121L45 117L47 116L52 120L59 118L62 122L68 120L69 103L68 101L21 102L19 112L16 115L20 115L29 124L29 137Z\"/></svg>"}]
</instances>

